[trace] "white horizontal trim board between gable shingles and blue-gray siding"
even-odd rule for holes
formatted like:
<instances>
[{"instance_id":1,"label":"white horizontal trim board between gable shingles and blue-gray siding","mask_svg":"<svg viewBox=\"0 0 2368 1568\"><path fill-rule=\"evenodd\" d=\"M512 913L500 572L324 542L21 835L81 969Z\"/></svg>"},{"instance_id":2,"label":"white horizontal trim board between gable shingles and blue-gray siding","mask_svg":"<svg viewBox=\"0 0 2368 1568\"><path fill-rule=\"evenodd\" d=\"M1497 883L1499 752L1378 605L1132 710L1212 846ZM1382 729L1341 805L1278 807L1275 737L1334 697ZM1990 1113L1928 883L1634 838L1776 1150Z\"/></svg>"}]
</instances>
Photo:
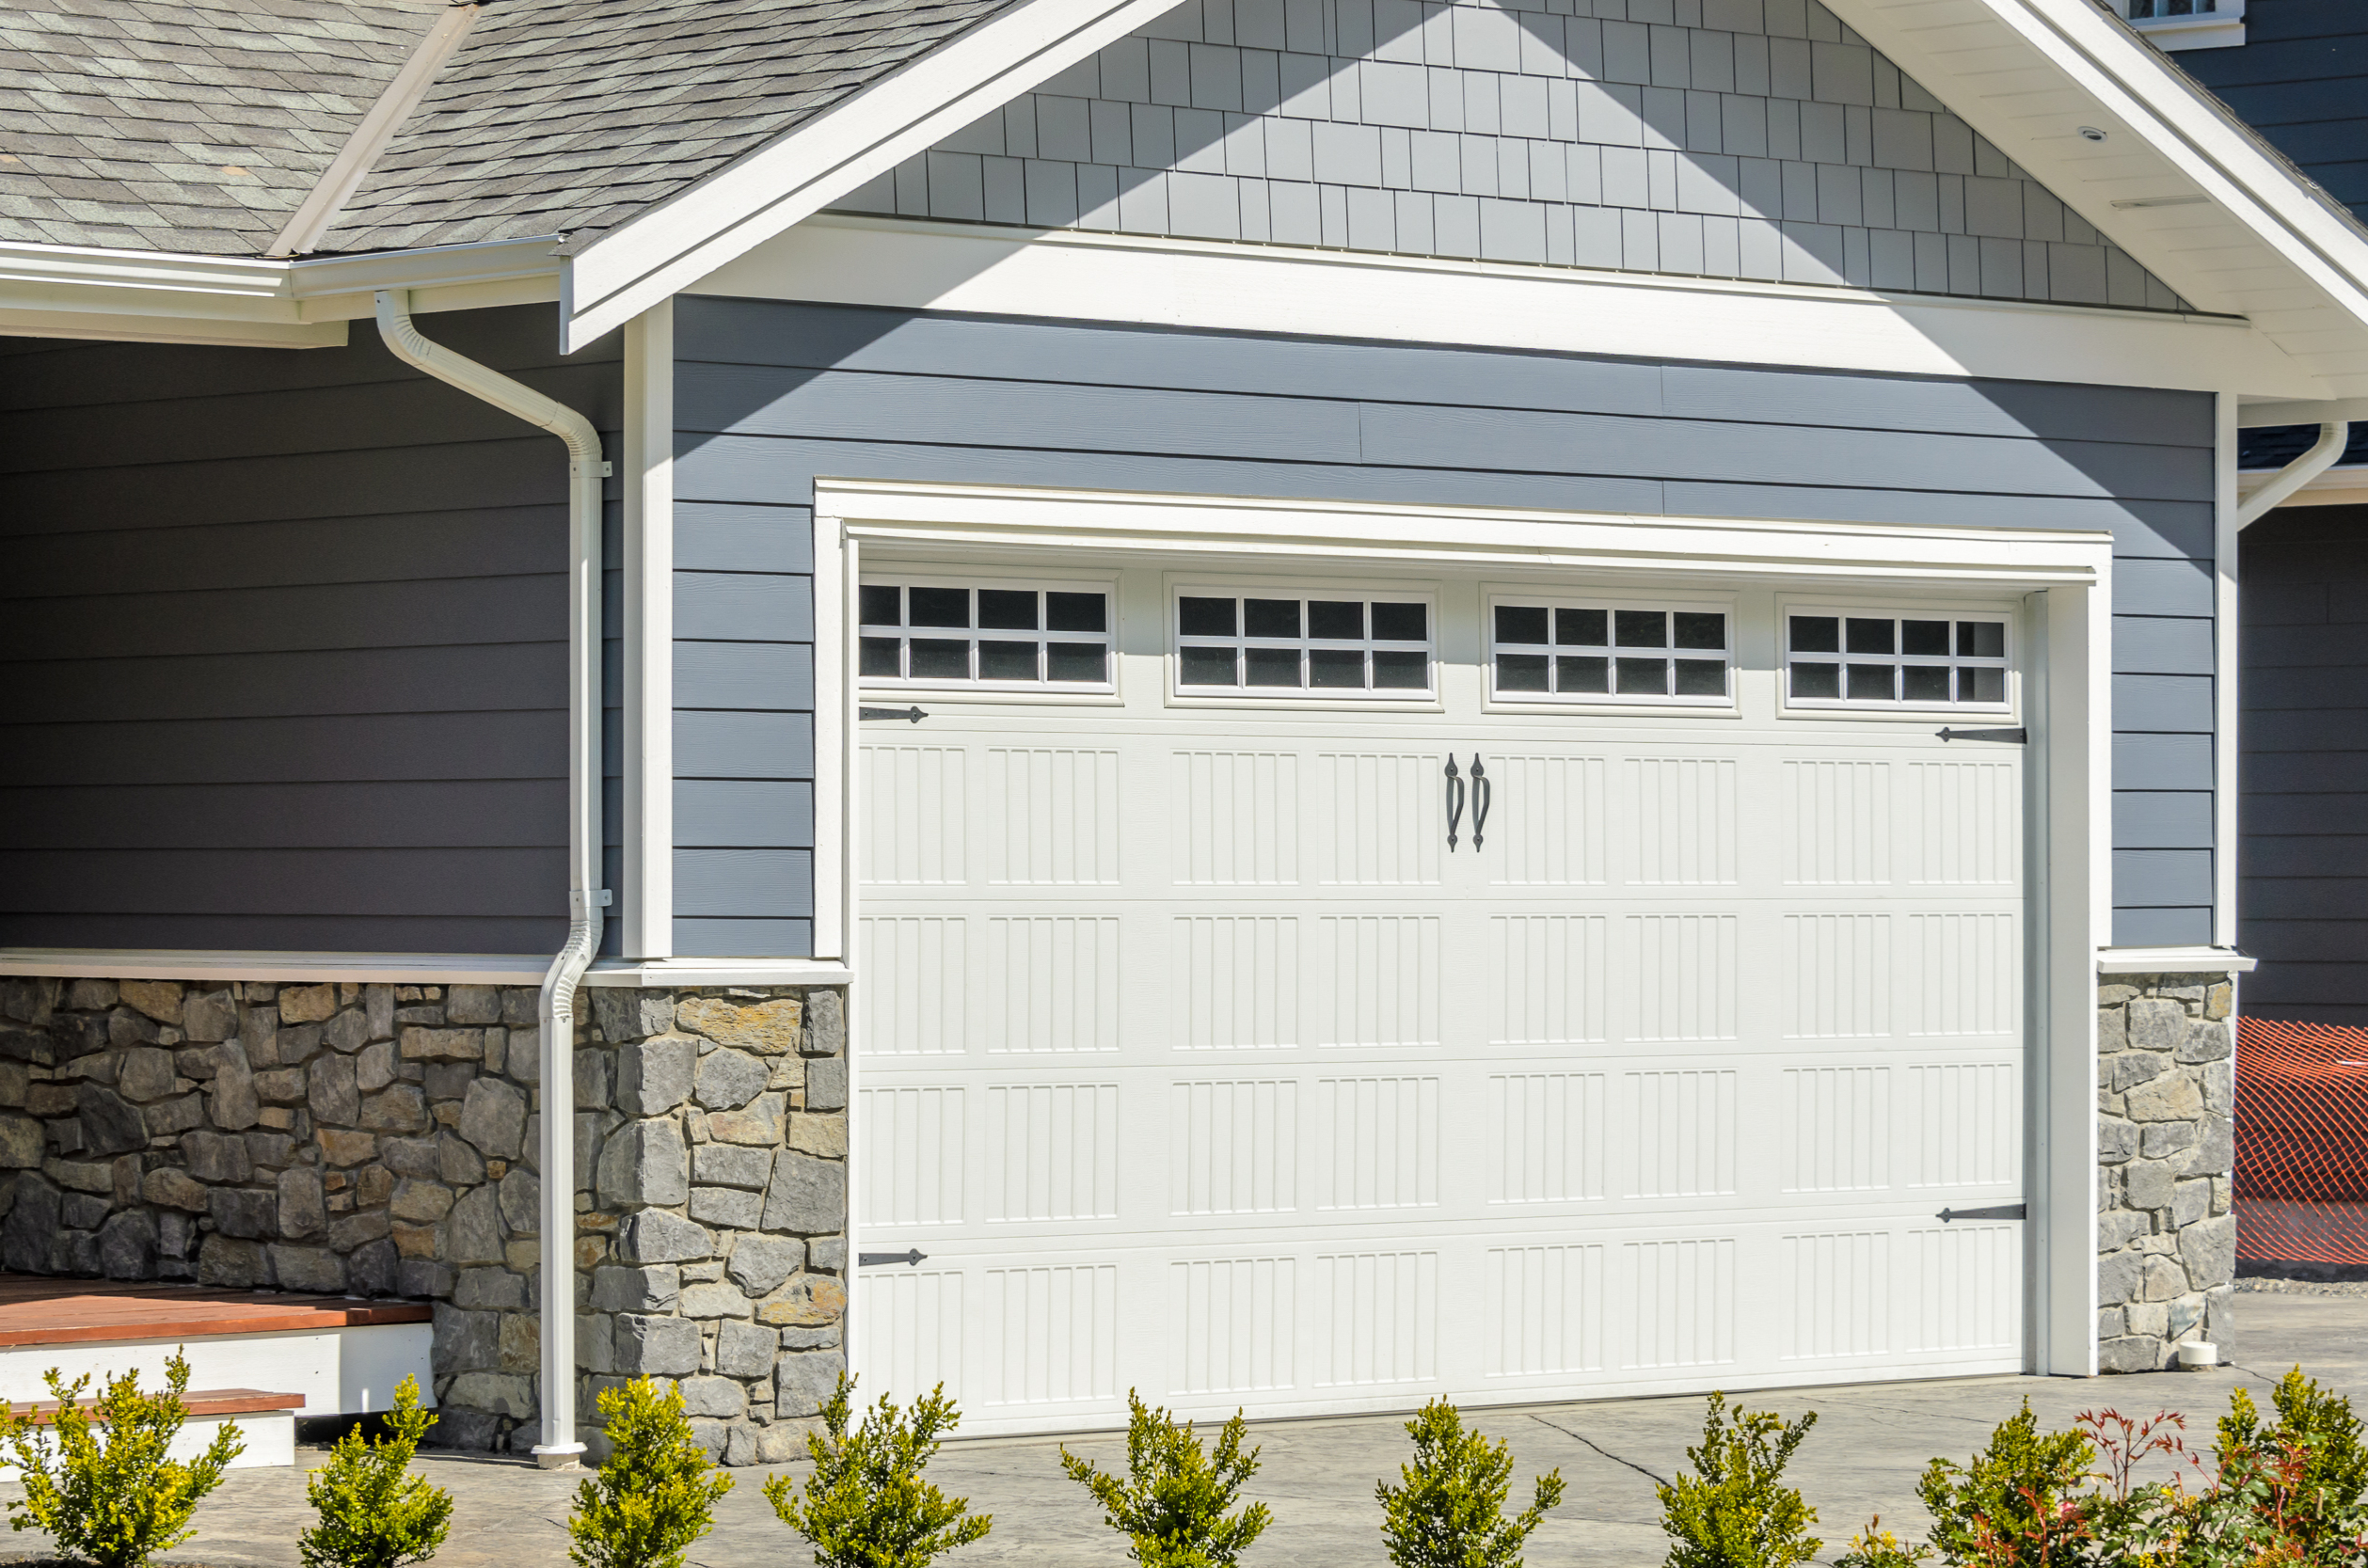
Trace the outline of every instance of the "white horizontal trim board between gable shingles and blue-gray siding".
<instances>
[{"instance_id":1,"label":"white horizontal trim board between gable shingles and blue-gray siding","mask_svg":"<svg viewBox=\"0 0 2368 1568\"><path fill-rule=\"evenodd\" d=\"M824 213L694 294L1883 374L2318 391L2247 322Z\"/></svg>"}]
</instances>

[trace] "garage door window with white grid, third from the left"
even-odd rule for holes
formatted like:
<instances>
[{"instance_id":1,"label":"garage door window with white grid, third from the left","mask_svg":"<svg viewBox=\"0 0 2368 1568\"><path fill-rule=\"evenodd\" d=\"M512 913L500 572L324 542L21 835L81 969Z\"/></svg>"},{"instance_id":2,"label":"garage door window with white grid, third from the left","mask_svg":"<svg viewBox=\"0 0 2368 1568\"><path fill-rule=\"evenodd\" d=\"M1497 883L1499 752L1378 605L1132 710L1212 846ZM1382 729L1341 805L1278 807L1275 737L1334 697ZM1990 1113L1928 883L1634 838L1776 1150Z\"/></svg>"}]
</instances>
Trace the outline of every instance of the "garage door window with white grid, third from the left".
<instances>
[{"instance_id":1,"label":"garage door window with white grid, third from the left","mask_svg":"<svg viewBox=\"0 0 2368 1568\"><path fill-rule=\"evenodd\" d=\"M1504 701L1729 703L1726 611L1504 597L1489 632Z\"/></svg>"}]
</instances>

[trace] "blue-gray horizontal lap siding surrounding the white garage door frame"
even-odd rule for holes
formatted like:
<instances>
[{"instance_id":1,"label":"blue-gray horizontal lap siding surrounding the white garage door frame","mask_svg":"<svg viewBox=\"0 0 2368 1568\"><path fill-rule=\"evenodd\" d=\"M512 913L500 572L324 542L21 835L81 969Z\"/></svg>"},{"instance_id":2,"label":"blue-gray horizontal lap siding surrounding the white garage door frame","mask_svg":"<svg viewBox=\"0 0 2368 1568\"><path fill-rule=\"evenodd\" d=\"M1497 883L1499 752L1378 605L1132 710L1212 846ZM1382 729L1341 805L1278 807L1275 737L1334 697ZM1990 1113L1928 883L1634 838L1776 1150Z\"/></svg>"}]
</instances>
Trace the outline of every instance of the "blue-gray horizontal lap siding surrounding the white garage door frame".
<instances>
[{"instance_id":1,"label":"blue-gray horizontal lap siding surrounding the white garage door frame","mask_svg":"<svg viewBox=\"0 0 2368 1568\"><path fill-rule=\"evenodd\" d=\"M817 474L2115 535L2117 940L2209 940L2212 400L684 298L675 767L810 777ZM739 583L736 578L770 578ZM762 642L732 642L765 628ZM777 628L777 630L774 630ZM2124 711L2126 708L2126 711ZM706 822L720 838L746 827ZM677 855L680 952L784 891ZM689 921L699 921L696 933ZM2160 936L2176 931L2176 936Z\"/></svg>"}]
</instances>

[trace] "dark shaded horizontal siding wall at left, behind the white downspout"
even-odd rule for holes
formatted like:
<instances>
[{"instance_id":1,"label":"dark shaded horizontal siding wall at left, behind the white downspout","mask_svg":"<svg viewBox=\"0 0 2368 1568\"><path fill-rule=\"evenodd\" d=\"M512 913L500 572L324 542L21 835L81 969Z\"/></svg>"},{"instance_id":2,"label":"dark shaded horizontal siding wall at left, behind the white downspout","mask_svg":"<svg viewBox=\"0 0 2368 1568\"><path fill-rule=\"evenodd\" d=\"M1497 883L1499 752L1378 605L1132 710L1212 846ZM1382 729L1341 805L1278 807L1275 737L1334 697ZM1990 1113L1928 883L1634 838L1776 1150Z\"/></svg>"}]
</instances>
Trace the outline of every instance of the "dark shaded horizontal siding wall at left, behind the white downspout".
<instances>
[{"instance_id":1,"label":"dark shaded horizontal siding wall at left, behind the white downspout","mask_svg":"<svg viewBox=\"0 0 2368 1568\"><path fill-rule=\"evenodd\" d=\"M616 431L613 339L422 327ZM0 945L566 940L561 445L369 324L0 365Z\"/></svg>"}]
</instances>

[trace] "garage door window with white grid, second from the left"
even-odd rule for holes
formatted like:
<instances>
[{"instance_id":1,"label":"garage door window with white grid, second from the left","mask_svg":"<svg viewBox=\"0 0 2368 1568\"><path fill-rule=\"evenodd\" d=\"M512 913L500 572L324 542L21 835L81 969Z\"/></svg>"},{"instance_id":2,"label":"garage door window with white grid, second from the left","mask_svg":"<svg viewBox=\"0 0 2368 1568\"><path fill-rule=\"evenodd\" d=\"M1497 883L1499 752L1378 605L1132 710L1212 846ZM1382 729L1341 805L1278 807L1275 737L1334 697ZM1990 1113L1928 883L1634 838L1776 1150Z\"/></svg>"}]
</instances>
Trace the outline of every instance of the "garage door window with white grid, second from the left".
<instances>
[{"instance_id":1,"label":"garage door window with white grid, second from the left","mask_svg":"<svg viewBox=\"0 0 2368 1568\"><path fill-rule=\"evenodd\" d=\"M1191 587L1175 628L1184 694L1430 694L1430 599Z\"/></svg>"}]
</instances>

